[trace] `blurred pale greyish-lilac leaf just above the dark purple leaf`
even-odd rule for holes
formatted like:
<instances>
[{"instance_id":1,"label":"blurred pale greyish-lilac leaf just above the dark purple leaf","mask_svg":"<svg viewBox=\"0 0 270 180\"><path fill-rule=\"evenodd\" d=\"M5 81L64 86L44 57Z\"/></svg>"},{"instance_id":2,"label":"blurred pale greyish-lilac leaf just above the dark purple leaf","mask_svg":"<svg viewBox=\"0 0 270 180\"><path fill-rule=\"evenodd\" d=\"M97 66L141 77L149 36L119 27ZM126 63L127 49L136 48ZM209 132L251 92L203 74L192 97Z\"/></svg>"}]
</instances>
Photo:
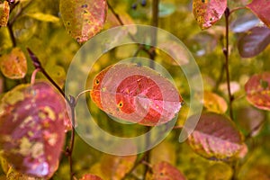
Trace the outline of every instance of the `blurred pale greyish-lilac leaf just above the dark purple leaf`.
<instances>
[{"instance_id":1,"label":"blurred pale greyish-lilac leaf just above the dark purple leaf","mask_svg":"<svg viewBox=\"0 0 270 180\"><path fill-rule=\"evenodd\" d=\"M250 30L255 27L260 21L257 17L252 13L247 13L244 15L240 15L236 18L232 23L230 23L229 27L233 32L244 32Z\"/></svg>"}]
</instances>

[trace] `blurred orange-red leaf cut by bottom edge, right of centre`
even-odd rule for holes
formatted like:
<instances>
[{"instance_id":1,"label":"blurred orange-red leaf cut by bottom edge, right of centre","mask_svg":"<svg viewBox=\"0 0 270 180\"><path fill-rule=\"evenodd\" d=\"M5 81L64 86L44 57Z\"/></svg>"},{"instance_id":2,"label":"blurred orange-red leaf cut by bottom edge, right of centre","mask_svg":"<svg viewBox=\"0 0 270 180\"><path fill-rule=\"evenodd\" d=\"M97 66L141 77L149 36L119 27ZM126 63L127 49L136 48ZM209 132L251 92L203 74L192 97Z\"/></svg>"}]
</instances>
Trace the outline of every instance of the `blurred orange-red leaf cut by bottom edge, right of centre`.
<instances>
[{"instance_id":1,"label":"blurred orange-red leaf cut by bottom edge, right of centre","mask_svg":"<svg viewBox=\"0 0 270 180\"><path fill-rule=\"evenodd\" d=\"M152 173L148 172L147 180L185 180L184 175L166 161L159 162L152 168Z\"/></svg>"}]
</instances>

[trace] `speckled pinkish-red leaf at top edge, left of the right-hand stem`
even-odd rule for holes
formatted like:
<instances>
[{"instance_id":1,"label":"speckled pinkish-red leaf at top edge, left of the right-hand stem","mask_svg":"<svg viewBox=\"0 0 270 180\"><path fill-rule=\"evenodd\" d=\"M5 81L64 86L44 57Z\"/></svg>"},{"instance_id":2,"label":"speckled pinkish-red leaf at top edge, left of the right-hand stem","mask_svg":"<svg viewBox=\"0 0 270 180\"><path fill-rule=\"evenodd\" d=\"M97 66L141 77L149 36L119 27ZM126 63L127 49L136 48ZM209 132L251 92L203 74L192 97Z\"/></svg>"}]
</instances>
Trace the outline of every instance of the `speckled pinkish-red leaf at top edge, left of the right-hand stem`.
<instances>
[{"instance_id":1,"label":"speckled pinkish-red leaf at top edge, left of the right-hand stem","mask_svg":"<svg viewBox=\"0 0 270 180\"><path fill-rule=\"evenodd\" d=\"M202 30L217 23L226 7L226 0L193 0L193 14Z\"/></svg>"}]
</instances>

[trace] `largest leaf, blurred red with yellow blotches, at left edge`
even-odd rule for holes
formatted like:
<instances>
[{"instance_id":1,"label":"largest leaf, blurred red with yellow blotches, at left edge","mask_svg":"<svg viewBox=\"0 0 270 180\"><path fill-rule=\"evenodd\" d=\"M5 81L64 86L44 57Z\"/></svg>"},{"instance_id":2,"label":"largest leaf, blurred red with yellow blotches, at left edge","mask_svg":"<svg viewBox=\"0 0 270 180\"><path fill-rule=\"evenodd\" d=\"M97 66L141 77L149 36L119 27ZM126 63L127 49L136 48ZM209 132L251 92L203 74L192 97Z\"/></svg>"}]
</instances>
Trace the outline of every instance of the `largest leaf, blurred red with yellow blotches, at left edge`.
<instances>
[{"instance_id":1,"label":"largest leaf, blurred red with yellow blotches, at left edge","mask_svg":"<svg viewBox=\"0 0 270 180\"><path fill-rule=\"evenodd\" d=\"M65 140L66 103L45 82L18 85L0 103L0 148L14 169L51 177Z\"/></svg>"}]
</instances>

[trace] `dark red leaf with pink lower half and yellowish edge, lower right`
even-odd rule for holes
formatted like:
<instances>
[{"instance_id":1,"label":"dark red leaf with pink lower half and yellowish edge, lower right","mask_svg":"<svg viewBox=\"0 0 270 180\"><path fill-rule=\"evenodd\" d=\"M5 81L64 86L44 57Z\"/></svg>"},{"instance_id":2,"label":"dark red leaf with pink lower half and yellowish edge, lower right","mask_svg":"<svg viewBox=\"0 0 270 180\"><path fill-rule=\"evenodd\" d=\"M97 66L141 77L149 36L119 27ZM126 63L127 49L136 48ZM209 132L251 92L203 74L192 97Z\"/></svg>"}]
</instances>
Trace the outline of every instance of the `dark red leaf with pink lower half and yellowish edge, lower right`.
<instances>
[{"instance_id":1,"label":"dark red leaf with pink lower half and yellowish edge, lower right","mask_svg":"<svg viewBox=\"0 0 270 180\"><path fill-rule=\"evenodd\" d=\"M193 115L187 121L196 117ZM214 112L201 115L188 143L202 157L224 161L238 157L244 147L243 137L234 122Z\"/></svg>"}]
</instances>

